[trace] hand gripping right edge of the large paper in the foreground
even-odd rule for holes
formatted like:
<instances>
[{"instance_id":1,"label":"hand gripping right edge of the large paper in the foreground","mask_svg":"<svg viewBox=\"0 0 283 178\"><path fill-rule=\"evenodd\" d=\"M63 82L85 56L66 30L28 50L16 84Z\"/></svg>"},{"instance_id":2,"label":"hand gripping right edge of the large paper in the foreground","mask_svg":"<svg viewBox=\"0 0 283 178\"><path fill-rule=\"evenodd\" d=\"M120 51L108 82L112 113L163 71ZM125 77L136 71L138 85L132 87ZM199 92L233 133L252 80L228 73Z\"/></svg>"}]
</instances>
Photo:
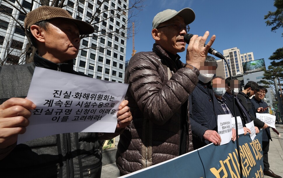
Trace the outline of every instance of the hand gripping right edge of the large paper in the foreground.
<instances>
[{"instance_id":1,"label":"hand gripping right edge of the large paper in the foreground","mask_svg":"<svg viewBox=\"0 0 283 178\"><path fill-rule=\"evenodd\" d=\"M116 128L125 128L129 125L133 119L132 113L130 112L130 107L128 107L128 101L124 100L119 105L119 111L117 112L117 127Z\"/></svg>"}]
</instances>

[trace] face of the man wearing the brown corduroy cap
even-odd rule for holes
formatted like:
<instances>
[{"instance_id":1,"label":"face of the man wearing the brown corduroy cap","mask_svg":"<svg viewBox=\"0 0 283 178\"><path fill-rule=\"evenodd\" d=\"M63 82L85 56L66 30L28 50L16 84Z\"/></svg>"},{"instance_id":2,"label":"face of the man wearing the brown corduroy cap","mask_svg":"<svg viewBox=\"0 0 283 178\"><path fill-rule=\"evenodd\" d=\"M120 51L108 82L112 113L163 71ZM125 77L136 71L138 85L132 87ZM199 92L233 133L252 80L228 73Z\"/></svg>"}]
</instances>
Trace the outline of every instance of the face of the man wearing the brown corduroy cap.
<instances>
[{"instance_id":1,"label":"face of the man wearing the brown corduroy cap","mask_svg":"<svg viewBox=\"0 0 283 178\"><path fill-rule=\"evenodd\" d=\"M55 63L76 58L80 46L80 34L76 24L70 21L50 20L44 31L46 54L42 57Z\"/></svg>"}]
</instances>

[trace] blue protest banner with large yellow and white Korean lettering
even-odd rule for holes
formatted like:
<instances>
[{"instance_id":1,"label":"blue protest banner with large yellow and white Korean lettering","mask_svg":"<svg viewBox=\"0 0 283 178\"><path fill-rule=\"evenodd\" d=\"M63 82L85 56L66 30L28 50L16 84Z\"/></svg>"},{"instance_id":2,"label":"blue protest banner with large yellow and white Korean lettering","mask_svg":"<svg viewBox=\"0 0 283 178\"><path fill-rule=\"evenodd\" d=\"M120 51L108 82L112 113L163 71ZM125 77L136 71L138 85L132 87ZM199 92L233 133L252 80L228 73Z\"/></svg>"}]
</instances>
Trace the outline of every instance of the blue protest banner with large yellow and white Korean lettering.
<instances>
[{"instance_id":1,"label":"blue protest banner with large yellow and white Korean lettering","mask_svg":"<svg viewBox=\"0 0 283 178\"><path fill-rule=\"evenodd\" d=\"M238 140L243 177L263 178L262 130L254 140L251 140L249 134L239 135ZM123 177L240 177L237 146L232 141L221 146L209 144Z\"/></svg>"}]
</instances>

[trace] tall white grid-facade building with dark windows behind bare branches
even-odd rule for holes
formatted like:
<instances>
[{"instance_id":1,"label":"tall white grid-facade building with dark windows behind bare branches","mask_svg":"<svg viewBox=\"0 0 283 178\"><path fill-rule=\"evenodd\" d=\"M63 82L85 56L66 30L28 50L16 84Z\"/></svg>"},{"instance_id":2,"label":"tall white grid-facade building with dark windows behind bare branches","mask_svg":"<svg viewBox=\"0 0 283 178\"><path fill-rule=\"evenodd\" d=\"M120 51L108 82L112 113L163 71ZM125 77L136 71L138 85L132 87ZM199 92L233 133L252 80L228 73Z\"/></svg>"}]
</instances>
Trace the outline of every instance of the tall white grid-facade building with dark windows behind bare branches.
<instances>
[{"instance_id":1,"label":"tall white grid-facade building with dark windows behind bare branches","mask_svg":"<svg viewBox=\"0 0 283 178\"><path fill-rule=\"evenodd\" d=\"M92 15L97 15L90 23L95 23L95 33L81 40L81 50L74 60L76 71L97 79L124 82L128 1L64 1L64 9L73 18L90 22ZM20 5L15 0L9 2L16 7L21 5L27 12L41 4L35 0L31 9L32 0L19 0ZM0 6L0 60L3 64L25 63L27 37L16 22L23 24L25 15L4 1L0 1Z\"/></svg>"}]
</instances>

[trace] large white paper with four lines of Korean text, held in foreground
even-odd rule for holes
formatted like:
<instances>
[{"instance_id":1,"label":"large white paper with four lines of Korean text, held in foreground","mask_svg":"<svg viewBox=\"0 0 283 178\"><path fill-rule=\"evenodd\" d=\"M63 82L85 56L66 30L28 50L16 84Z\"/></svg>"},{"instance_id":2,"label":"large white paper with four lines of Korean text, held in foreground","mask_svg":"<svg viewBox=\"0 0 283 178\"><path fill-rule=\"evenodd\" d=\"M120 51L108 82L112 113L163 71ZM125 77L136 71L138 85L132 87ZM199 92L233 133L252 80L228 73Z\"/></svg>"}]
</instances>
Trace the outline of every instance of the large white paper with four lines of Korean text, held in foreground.
<instances>
[{"instance_id":1,"label":"large white paper with four lines of Korean text, held in foreground","mask_svg":"<svg viewBox=\"0 0 283 178\"><path fill-rule=\"evenodd\" d=\"M71 132L114 132L128 84L36 67L27 99L36 105L18 144Z\"/></svg>"}]
</instances>

